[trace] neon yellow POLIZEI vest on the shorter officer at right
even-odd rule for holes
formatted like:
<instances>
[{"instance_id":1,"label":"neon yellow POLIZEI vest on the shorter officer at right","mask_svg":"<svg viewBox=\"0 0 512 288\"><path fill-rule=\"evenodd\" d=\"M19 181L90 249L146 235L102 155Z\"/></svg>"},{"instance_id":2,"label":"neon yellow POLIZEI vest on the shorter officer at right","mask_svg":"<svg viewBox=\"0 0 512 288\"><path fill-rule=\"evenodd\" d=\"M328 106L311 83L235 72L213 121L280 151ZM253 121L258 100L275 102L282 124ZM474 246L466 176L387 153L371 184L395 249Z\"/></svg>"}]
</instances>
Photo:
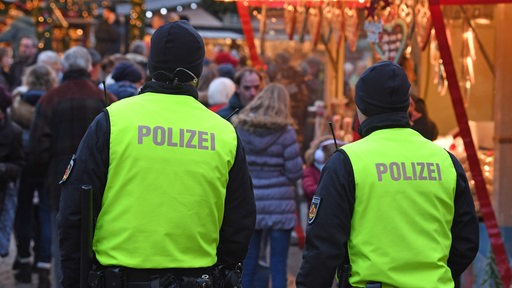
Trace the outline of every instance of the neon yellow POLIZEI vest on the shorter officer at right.
<instances>
[{"instance_id":1,"label":"neon yellow POLIZEI vest on the shorter officer at right","mask_svg":"<svg viewBox=\"0 0 512 288\"><path fill-rule=\"evenodd\" d=\"M350 283L453 287L447 266L456 172L449 154L407 128L342 147L354 169Z\"/></svg>"}]
</instances>

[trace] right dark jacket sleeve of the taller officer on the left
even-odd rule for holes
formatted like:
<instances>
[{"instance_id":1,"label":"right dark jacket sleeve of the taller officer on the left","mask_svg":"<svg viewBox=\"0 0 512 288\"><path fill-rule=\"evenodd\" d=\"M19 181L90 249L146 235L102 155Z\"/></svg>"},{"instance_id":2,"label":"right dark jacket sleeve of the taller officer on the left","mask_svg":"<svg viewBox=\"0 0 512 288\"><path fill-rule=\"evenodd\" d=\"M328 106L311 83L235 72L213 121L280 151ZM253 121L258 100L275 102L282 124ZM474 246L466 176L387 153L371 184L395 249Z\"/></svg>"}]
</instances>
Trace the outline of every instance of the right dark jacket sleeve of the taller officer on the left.
<instances>
[{"instance_id":1,"label":"right dark jacket sleeve of the taller officer on the left","mask_svg":"<svg viewBox=\"0 0 512 288\"><path fill-rule=\"evenodd\" d=\"M256 223L256 204L242 141L237 136L235 162L229 171L224 220L217 247L217 264L244 260Z\"/></svg>"}]
</instances>

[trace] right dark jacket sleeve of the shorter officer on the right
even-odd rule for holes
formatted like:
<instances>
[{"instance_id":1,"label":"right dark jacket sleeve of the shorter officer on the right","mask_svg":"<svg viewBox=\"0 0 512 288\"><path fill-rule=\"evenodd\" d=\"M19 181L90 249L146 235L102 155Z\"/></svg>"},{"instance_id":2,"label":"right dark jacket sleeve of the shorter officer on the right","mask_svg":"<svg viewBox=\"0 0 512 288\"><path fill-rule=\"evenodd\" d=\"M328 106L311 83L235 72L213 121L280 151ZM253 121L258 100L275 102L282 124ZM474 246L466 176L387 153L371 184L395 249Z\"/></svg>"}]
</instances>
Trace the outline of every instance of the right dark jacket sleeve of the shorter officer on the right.
<instances>
[{"instance_id":1,"label":"right dark jacket sleeve of the shorter officer on the right","mask_svg":"<svg viewBox=\"0 0 512 288\"><path fill-rule=\"evenodd\" d=\"M469 190L466 173L455 156L451 153L449 154L457 172L457 186L454 199L455 213L451 228L452 245L450 256L448 257L448 267L452 271L453 279L457 279L471 264L478 252L479 229L475 205Z\"/></svg>"}]
</instances>

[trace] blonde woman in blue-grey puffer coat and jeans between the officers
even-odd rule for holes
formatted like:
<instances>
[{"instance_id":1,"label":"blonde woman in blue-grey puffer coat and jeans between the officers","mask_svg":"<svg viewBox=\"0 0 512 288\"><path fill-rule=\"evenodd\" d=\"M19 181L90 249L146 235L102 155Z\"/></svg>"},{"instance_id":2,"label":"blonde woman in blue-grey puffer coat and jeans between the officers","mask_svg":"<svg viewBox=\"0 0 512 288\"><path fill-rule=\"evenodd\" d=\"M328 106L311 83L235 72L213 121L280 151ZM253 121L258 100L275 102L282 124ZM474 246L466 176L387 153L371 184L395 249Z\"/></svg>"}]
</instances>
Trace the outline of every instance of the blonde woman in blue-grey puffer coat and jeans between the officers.
<instances>
[{"instance_id":1,"label":"blonde woman in blue-grey puffer coat and jeans between the officers","mask_svg":"<svg viewBox=\"0 0 512 288\"><path fill-rule=\"evenodd\" d=\"M271 83L233 118L247 157L256 199L256 227L244 261L242 286L255 287L260 248L270 240L273 288L287 287L286 264L296 224L295 184L302 158L286 88ZM268 283L267 283L268 284Z\"/></svg>"}]
</instances>

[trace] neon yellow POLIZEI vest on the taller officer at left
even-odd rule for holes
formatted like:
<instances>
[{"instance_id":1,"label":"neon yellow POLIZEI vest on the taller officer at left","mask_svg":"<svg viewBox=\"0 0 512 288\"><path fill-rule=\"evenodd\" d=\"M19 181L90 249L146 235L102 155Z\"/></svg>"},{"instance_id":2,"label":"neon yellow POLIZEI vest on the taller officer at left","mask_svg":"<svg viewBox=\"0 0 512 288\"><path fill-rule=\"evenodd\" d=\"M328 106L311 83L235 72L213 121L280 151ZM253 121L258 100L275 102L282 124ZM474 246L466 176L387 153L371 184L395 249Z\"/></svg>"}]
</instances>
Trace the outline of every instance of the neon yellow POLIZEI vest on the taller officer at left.
<instances>
[{"instance_id":1,"label":"neon yellow POLIZEI vest on the taller officer at left","mask_svg":"<svg viewBox=\"0 0 512 288\"><path fill-rule=\"evenodd\" d=\"M212 266L236 154L233 126L190 96L145 93L107 109L110 165L93 241L98 261Z\"/></svg>"}]
</instances>

